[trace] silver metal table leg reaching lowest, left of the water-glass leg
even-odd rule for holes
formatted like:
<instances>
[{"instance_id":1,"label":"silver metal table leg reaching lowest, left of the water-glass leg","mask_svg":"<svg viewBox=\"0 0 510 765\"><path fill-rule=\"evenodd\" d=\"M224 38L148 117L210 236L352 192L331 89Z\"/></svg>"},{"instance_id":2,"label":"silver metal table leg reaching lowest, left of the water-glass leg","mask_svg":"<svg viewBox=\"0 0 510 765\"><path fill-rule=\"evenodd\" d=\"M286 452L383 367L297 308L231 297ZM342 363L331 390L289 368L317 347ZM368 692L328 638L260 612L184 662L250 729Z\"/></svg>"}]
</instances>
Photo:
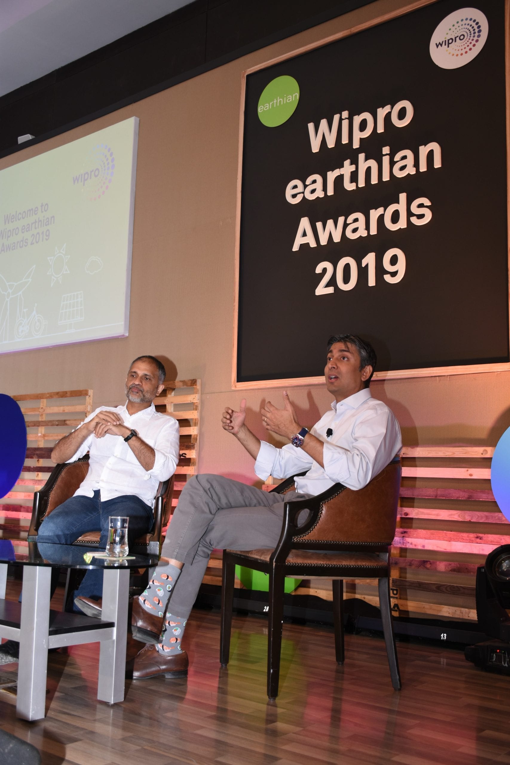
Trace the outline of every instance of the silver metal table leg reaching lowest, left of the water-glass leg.
<instances>
[{"instance_id":1,"label":"silver metal table leg reaching lowest, left of the water-glass leg","mask_svg":"<svg viewBox=\"0 0 510 765\"><path fill-rule=\"evenodd\" d=\"M50 622L51 568L24 566L16 714L44 718Z\"/></svg>"}]
</instances>

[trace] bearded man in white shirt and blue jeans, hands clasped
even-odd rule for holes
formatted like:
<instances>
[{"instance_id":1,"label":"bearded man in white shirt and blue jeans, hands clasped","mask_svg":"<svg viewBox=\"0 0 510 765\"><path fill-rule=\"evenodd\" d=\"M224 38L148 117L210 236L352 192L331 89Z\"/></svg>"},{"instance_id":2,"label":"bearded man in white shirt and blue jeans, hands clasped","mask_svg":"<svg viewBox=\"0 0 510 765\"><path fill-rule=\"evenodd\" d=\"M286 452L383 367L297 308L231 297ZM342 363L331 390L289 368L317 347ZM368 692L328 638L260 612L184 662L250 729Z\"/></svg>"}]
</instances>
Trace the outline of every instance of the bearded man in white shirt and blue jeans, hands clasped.
<instances>
[{"instance_id":1,"label":"bearded man in white shirt and blue jeans, hands clasped","mask_svg":"<svg viewBox=\"0 0 510 765\"><path fill-rule=\"evenodd\" d=\"M109 517L127 516L128 544L151 530L154 497L179 460L179 423L154 409L164 388L165 369L154 356L138 356L125 381L125 405L100 406L55 445L51 460L73 462L89 452L89 470L74 496L41 523L37 542L70 545L84 532L99 531L108 541ZM87 571L75 606L100 615L102 571ZM84 598L84 599L83 599Z\"/></svg>"}]
</instances>

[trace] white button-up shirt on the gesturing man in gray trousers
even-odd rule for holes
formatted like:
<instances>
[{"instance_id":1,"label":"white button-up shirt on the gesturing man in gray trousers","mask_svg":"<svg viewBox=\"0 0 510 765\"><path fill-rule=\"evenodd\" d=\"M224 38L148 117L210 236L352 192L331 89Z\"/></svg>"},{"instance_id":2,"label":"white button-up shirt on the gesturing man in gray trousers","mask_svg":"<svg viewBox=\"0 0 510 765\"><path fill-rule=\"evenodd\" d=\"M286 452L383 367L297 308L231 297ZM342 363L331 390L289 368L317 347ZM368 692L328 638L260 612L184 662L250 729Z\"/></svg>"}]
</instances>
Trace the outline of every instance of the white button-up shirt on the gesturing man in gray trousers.
<instances>
[{"instance_id":1,"label":"white button-up shirt on the gesturing man in gray trousers","mask_svg":"<svg viewBox=\"0 0 510 765\"><path fill-rule=\"evenodd\" d=\"M307 470L306 475L296 478L296 490L313 496L326 491L333 483L362 489L401 451L395 415L382 401L372 399L369 388L339 403L333 402L331 410L310 430L324 442L324 467L292 444L277 449L262 441L255 462L258 477L262 480L270 475L288 478ZM333 435L327 438L329 428Z\"/></svg>"}]
</instances>

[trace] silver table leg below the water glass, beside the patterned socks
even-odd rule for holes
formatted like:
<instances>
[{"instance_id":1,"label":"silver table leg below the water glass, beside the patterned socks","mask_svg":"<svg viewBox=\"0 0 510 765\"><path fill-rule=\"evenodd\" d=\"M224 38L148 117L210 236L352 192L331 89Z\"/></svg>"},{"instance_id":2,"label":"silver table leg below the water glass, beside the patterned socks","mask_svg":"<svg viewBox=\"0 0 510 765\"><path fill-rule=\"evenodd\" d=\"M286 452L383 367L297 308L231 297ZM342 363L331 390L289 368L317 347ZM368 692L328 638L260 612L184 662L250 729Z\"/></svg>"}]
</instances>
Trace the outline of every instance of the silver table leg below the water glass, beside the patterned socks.
<instances>
[{"instance_id":1,"label":"silver table leg below the water glass, beside the patterned socks","mask_svg":"<svg viewBox=\"0 0 510 765\"><path fill-rule=\"evenodd\" d=\"M101 641L97 698L109 704L124 701L128 597L129 569L106 568L102 584L101 618L115 622L115 638Z\"/></svg>"}]
</instances>

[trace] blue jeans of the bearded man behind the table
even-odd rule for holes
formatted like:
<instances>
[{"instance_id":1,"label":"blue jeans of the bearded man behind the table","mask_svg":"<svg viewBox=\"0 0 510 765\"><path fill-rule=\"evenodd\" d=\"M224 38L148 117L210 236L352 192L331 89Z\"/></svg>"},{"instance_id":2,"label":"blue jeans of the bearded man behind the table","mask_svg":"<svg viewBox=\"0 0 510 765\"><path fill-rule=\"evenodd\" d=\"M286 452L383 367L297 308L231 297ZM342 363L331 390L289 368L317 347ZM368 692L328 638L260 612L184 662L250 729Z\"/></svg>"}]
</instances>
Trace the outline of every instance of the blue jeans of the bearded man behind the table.
<instances>
[{"instance_id":1,"label":"blue jeans of the bearded man behind the table","mask_svg":"<svg viewBox=\"0 0 510 765\"><path fill-rule=\"evenodd\" d=\"M154 522L154 513L139 496L125 494L113 500L101 500L99 490L94 496L71 496L56 507L41 523L37 533L37 542L53 542L59 545L71 545L82 534L99 531L99 548L105 549L108 542L110 516L127 516L128 545L135 542L142 534L147 534ZM52 591L53 594L53 591ZM102 597L102 570L91 568L86 572L76 597Z\"/></svg>"}]
</instances>

